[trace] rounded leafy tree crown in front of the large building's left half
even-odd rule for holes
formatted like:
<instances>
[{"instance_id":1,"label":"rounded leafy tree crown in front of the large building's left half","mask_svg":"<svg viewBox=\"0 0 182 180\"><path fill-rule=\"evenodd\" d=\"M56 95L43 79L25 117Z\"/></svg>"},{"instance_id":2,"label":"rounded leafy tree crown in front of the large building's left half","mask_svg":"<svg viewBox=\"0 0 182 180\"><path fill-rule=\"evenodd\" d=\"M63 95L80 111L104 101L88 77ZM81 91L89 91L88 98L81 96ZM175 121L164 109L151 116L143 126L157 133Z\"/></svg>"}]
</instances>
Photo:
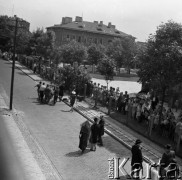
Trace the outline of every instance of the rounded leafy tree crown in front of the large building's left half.
<instances>
[{"instance_id":1,"label":"rounded leafy tree crown in front of the large building's left half","mask_svg":"<svg viewBox=\"0 0 182 180\"><path fill-rule=\"evenodd\" d=\"M82 61L87 58L86 47L75 40L61 46L60 51L63 62L65 63L73 64L73 62L78 62L78 64L81 64Z\"/></svg>"}]
</instances>

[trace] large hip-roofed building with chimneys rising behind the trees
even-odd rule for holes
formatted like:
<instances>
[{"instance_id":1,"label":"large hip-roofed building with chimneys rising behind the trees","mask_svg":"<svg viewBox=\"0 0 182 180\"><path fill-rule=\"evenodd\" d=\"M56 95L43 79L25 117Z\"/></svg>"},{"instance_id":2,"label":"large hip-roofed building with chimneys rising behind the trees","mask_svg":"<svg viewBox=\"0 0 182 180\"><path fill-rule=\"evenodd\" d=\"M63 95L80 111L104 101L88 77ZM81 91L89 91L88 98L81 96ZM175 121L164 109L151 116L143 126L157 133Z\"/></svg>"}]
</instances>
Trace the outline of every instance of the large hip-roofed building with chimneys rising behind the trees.
<instances>
[{"instance_id":1,"label":"large hip-roofed building with chimneys rising behind the trees","mask_svg":"<svg viewBox=\"0 0 182 180\"><path fill-rule=\"evenodd\" d=\"M47 31L55 33L57 46L76 40L84 45L92 43L107 46L115 38L129 37L135 41L135 37L116 29L110 22L104 25L103 21L88 22L82 17L76 16L75 21L71 17L63 17L61 24L47 27Z\"/></svg>"}]
</instances>

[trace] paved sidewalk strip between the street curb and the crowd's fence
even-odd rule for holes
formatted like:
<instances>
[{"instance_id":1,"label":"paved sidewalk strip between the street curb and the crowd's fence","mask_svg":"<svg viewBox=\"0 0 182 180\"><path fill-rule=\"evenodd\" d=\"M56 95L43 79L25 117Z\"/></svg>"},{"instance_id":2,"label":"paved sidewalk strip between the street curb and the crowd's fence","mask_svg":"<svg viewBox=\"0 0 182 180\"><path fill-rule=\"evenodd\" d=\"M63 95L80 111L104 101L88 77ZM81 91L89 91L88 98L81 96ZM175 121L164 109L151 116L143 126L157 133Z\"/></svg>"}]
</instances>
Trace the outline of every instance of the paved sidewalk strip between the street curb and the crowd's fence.
<instances>
[{"instance_id":1,"label":"paved sidewalk strip between the street curb and the crowd's fence","mask_svg":"<svg viewBox=\"0 0 182 180\"><path fill-rule=\"evenodd\" d=\"M18 66L17 66L17 64L18 64ZM23 72L25 71L25 73L29 77L34 79L35 81L43 80L40 77L38 77L37 75L32 74L31 70L29 71L27 68L22 67L19 64L19 62L16 62L16 66L18 68L20 68ZM156 143L154 143L155 138L157 138L157 139L160 139L160 138L158 136L156 136L154 139L149 140L148 138L141 135L142 131L144 131L144 132L146 131L145 126L137 126L135 123L132 123L132 125L133 125L132 128L140 131L140 133L138 133L123 124L125 122L125 118L121 114L111 113L111 117L109 117L105 114L106 110L104 110L104 109L93 110L93 109L91 109L91 106L86 102L77 102L75 109L80 114L82 114L84 117L86 117L87 119L89 119L91 121L93 121L93 118L95 116L100 116L101 114L103 114L105 117L106 123L107 123L106 132L108 134L110 134L112 137L114 137L115 139L117 139L118 141L123 143L128 148L131 148L131 145L133 144L133 142L137 138L140 138L143 141L143 149L144 149L143 153L144 153L144 156L146 157L146 159L149 159L154 162L158 162L159 158L161 158L162 153L164 152L164 148L162 146L159 146ZM117 121L115 119L117 119ZM162 138L161 138L161 141L162 141L162 144L164 144L164 145L167 143L167 141L164 142L162 140ZM180 158L177 158L177 161L180 164L180 166L182 166L182 160Z\"/></svg>"}]
</instances>

